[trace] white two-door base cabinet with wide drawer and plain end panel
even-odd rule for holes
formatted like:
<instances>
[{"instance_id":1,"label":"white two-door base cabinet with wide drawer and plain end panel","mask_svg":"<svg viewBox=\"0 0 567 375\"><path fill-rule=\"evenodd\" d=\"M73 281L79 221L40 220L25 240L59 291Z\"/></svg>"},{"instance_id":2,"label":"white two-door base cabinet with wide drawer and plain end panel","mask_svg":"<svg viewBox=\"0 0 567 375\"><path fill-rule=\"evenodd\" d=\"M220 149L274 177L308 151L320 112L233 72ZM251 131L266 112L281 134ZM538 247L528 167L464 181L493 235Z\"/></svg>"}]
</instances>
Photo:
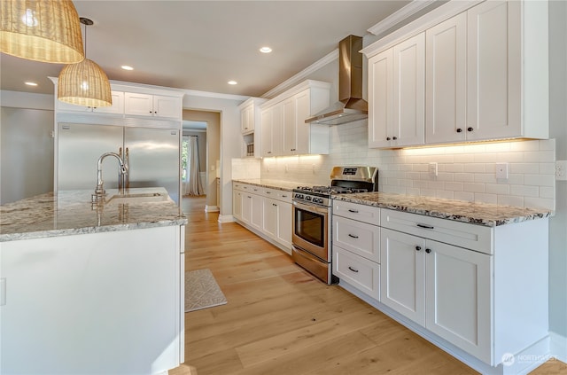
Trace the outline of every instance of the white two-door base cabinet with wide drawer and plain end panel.
<instances>
[{"instance_id":1,"label":"white two-door base cabinet with wide drawer and plain end panel","mask_svg":"<svg viewBox=\"0 0 567 375\"><path fill-rule=\"evenodd\" d=\"M548 334L546 297L528 302L518 292L547 293L547 251L532 250L547 244L548 220L491 228L389 209L381 216L385 306L490 366Z\"/></svg>"}]
</instances>

